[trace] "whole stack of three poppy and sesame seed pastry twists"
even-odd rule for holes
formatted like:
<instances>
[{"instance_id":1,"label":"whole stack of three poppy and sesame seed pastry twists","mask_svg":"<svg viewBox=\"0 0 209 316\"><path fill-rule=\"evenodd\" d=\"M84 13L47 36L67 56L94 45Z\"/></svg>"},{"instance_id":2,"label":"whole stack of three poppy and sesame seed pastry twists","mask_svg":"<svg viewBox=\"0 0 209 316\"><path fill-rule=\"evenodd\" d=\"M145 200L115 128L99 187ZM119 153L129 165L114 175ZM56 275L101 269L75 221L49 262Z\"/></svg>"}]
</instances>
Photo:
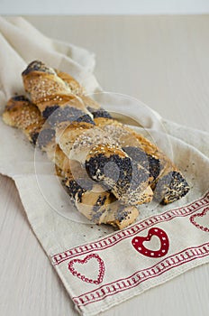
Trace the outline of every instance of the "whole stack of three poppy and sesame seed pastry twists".
<instances>
[{"instance_id":1,"label":"whole stack of three poppy and sesame seed pastry twists","mask_svg":"<svg viewBox=\"0 0 209 316\"><path fill-rule=\"evenodd\" d=\"M67 73L39 60L23 71L25 96L10 98L5 124L55 163L75 206L96 224L125 228L152 199L168 204L189 186L155 144L115 120Z\"/></svg>"}]
</instances>

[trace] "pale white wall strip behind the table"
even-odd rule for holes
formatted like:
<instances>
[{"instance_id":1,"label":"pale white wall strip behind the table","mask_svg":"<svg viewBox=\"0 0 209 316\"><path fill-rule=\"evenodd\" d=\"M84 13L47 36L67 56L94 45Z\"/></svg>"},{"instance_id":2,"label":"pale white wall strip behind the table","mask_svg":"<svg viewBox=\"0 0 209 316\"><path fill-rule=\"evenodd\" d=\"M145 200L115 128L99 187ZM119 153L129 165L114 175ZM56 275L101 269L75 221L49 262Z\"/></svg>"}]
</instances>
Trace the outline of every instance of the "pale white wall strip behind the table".
<instances>
[{"instance_id":1,"label":"pale white wall strip behind the table","mask_svg":"<svg viewBox=\"0 0 209 316\"><path fill-rule=\"evenodd\" d=\"M0 14L207 14L209 0L0 0Z\"/></svg>"}]
</instances>

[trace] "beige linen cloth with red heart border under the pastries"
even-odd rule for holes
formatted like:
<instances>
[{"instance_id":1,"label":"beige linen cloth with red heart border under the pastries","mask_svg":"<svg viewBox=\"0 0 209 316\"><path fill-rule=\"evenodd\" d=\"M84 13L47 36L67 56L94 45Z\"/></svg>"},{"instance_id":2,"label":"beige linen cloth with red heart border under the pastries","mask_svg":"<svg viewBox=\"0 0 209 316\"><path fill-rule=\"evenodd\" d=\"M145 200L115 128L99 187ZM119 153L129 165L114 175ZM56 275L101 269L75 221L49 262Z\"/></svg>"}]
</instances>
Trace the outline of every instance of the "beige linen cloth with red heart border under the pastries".
<instances>
[{"instance_id":1,"label":"beige linen cloth with red heart border under the pastries","mask_svg":"<svg viewBox=\"0 0 209 316\"><path fill-rule=\"evenodd\" d=\"M93 75L94 54L50 40L19 17L1 18L0 31L1 112L7 98L23 93L21 72L35 59L69 72L90 94L102 91ZM191 191L172 205L141 206L139 221L123 231L98 227L70 204L46 157L0 120L0 172L14 179L36 237L83 315L95 315L209 261L209 135L168 122L126 96L99 93L95 98L107 110L140 122L143 128L134 128L172 157Z\"/></svg>"}]
</instances>

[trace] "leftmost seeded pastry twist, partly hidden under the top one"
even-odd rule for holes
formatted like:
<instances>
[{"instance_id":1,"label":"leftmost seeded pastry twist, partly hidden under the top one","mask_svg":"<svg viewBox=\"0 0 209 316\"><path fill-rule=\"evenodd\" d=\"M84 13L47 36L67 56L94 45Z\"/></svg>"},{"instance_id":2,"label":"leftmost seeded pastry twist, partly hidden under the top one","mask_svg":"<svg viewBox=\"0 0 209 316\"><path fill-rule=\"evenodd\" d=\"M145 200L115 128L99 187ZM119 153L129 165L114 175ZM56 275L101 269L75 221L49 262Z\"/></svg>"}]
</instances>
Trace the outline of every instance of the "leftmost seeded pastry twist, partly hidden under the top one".
<instances>
[{"instance_id":1,"label":"leftmost seeded pastry twist, partly hidden under the top one","mask_svg":"<svg viewBox=\"0 0 209 316\"><path fill-rule=\"evenodd\" d=\"M110 191L98 183L91 181L80 163L69 161L68 157L55 142L55 131L41 112L24 96L11 98L3 114L5 124L17 127L23 131L28 140L47 153L50 161L55 163L59 176L68 195L74 201L79 212L95 224L110 224L115 228L124 228L132 224L138 217L139 210L134 206L123 205L115 199ZM70 168L73 166L74 175Z\"/></svg>"}]
</instances>

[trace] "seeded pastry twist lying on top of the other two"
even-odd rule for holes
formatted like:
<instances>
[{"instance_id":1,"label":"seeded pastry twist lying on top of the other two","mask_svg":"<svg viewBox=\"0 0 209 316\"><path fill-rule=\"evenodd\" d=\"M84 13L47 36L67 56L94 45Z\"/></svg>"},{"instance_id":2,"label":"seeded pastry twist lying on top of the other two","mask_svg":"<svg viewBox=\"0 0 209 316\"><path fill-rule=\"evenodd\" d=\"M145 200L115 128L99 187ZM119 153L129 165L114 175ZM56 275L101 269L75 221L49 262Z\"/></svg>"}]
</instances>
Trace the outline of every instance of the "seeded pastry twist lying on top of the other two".
<instances>
[{"instance_id":1,"label":"seeded pastry twist lying on top of the other two","mask_svg":"<svg viewBox=\"0 0 209 316\"><path fill-rule=\"evenodd\" d=\"M58 72L58 70L57 70ZM94 181L102 183L124 204L152 200L150 172L134 162L118 142L95 126L93 115L79 97L83 88L63 72L41 61L32 61L23 71L24 88L56 131L56 140L70 158L86 165ZM76 93L78 96L76 96Z\"/></svg>"}]
</instances>

